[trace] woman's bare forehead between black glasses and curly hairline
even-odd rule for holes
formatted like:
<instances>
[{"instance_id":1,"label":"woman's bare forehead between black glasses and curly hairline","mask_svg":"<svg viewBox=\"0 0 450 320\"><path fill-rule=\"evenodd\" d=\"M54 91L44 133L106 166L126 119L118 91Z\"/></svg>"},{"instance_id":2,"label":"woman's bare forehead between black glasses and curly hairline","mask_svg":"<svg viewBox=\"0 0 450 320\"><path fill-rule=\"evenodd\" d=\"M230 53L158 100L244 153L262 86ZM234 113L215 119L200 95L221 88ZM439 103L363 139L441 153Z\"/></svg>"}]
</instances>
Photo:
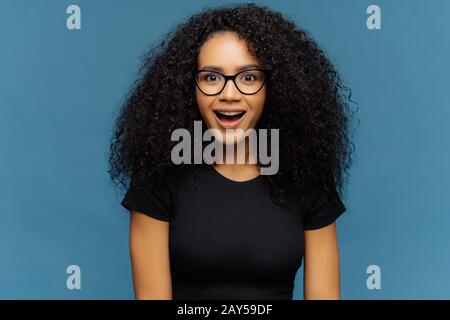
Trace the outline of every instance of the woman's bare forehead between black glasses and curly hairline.
<instances>
[{"instance_id":1,"label":"woman's bare forehead between black glasses and curly hairline","mask_svg":"<svg viewBox=\"0 0 450 320\"><path fill-rule=\"evenodd\" d=\"M199 68L215 67L214 69L224 72L236 72L244 65L260 65L246 41L229 31L216 33L205 41L200 48L197 63Z\"/></svg>"}]
</instances>

